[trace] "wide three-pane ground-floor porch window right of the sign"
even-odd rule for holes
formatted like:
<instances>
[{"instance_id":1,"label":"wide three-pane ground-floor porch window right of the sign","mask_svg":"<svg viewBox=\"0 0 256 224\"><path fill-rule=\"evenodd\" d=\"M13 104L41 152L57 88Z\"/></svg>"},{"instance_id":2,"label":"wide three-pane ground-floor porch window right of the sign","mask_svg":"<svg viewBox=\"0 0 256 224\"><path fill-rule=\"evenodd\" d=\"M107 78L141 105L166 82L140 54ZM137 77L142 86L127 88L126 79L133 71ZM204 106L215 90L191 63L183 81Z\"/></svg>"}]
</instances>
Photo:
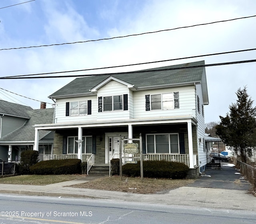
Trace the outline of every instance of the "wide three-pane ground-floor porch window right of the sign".
<instances>
[{"instance_id":1,"label":"wide three-pane ground-floor porch window right of the sign","mask_svg":"<svg viewBox=\"0 0 256 224\"><path fill-rule=\"evenodd\" d=\"M179 153L178 134L147 134L147 153Z\"/></svg>"}]
</instances>

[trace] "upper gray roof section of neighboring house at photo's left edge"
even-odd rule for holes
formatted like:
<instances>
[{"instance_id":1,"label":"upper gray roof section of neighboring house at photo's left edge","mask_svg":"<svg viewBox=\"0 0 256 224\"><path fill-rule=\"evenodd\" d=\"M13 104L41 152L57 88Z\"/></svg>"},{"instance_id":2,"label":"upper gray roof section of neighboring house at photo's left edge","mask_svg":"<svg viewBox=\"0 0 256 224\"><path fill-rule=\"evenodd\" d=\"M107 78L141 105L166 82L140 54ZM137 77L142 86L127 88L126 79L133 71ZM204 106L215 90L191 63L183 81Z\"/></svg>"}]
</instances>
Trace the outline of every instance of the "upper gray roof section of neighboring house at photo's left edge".
<instances>
[{"instance_id":1,"label":"upper gray roof section of neighboring house at photo's left edge","mask_svg":"<svg viewBox=\"0 0 256 224\"><path fill-rule=\"evenodd\" d=\"M0 100L0 114L12 115L21 118L29 118L26 111L33 110L29 106L24 106L20 104L14 104L4 100Z\"/></svg>"}]
</instances>

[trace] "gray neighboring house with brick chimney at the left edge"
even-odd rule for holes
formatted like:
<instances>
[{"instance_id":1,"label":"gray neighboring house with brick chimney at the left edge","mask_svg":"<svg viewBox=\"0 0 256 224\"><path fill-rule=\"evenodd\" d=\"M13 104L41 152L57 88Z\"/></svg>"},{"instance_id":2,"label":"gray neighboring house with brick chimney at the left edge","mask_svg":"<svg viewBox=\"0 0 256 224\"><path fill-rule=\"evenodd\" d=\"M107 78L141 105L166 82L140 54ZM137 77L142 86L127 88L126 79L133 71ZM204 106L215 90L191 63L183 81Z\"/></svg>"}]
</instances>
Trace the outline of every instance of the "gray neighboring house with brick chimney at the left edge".
<instances>
[{"instance_id":1,"label":"gray neighboring house with brick chimney at the left edge","mask_svg":"<svg viewBox=\"0 0 256 224\"><path fill-rule=\"evenodd\" d=\"M35 140L34 124L52 123L54 109L39 110L29 106L0 100L0 158L5 161L19 161L23 150L33 150ZM40 131L39 153L52 154L53 132Z\"/></svg>"}]
</instances>

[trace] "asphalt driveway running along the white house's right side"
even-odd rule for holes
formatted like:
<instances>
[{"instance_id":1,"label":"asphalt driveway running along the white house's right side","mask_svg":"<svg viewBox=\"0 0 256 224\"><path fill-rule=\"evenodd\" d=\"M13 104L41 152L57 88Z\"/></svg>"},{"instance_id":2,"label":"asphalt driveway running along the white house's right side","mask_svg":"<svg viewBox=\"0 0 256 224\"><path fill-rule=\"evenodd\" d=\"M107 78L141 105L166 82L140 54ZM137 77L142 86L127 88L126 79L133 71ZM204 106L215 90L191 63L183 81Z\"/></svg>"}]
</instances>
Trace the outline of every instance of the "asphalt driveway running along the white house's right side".
<instances>
[{"instance_id":1,"label":"asphalt driveway running along the white house's right side","mask_svg":"<svg viewBox=\"0 0 256 224\"><path fill-rule=\"evenodd\" d=\"M188 187L250 191L252 185L240 174L240 170L236 170L236 167L230 167L228 164L221 162L221 169L207 169Z\"/></svg>"}]
</instances>

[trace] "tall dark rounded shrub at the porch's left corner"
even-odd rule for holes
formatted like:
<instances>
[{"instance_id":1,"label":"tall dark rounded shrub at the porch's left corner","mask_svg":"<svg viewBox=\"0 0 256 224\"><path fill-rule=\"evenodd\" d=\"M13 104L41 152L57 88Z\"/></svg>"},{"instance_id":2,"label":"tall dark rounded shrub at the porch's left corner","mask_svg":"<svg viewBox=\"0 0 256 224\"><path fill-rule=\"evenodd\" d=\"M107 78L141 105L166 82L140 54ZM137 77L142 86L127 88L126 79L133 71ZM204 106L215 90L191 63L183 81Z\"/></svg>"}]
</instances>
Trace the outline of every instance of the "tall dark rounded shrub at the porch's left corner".
<instances>
[{"instance_id":1,"label":"tall dark rounded shrub at the porch's left corner","mask_svg":"<svg viewBox=\"0 0 256 224\"><path fill-rule=\"evenodd\" d=\"M29 174L29 167L38 162L38 151L26 150L20 154L20 165L18 170L21 174Z\"/></svg>"}]
</instances>

